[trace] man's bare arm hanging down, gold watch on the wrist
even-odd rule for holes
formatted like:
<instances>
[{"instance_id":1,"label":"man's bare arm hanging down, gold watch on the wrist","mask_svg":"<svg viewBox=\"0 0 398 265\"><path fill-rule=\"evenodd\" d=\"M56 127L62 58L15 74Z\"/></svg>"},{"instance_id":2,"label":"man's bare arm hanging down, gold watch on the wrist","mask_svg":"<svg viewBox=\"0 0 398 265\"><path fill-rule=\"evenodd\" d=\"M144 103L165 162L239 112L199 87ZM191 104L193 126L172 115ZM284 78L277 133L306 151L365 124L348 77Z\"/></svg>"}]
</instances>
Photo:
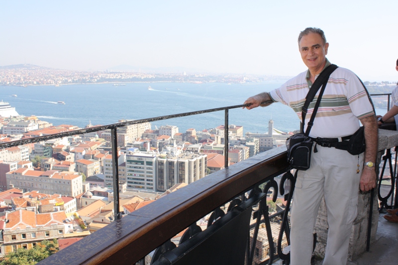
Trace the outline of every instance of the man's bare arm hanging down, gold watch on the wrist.
<instances>
[{"instance_id":1,"label":"man's bare arm hanging down, gold watch on the wrist","mask_svg":"<svg viewBox=\"0 0 398 265\"><path fill-rule=\"evenodd\" d=\"M361 175L360 188L362 191L368 191L376 187L376 155L377 155L377 144L378 144L378 126L374 115L361 119L361 123L365 129L365 157L364 161L372 162L374 167L369 168L364 166Z\"/></svg>"}]
</instances>

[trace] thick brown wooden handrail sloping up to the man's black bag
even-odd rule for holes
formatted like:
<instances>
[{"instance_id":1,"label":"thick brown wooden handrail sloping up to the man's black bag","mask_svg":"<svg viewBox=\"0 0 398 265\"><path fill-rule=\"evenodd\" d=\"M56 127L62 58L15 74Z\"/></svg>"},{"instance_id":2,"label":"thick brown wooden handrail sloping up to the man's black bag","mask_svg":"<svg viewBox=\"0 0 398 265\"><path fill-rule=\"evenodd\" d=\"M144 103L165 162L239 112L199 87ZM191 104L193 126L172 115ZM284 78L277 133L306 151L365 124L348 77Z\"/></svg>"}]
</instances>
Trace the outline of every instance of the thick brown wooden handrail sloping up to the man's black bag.
<instances>
[{"instance_id":1,"label":"thick brown wooden handrail sloping up to the man's black bag","mask_svg":"<svg viewBox=\"0 0 398 265\"><path fill-rule=\"evenodd\" d=\"M287 167L286 147L261 153L157 199L39 264L135 264L216 207Z\"/></svg>"}]
</instances>

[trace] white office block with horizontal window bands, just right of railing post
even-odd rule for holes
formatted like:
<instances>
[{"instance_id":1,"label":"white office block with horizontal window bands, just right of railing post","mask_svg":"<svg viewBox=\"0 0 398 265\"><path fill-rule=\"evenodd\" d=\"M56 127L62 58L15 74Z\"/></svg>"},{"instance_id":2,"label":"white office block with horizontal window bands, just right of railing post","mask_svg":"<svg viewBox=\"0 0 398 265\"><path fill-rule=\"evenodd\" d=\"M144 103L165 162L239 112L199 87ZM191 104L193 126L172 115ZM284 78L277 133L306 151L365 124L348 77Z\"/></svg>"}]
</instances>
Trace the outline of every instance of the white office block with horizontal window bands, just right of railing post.
<instances>
[{"instance_id":1,"label":"white office block with horizontal window bands, just right of railing post","mask_svg":"<svg viewBox=\"0 0 398 265\"><path fill-rule=\"evenodd\" d=\"M127 188L156 190L156 154L130 153L126 155Z\"/></svg>"}]
</instances>

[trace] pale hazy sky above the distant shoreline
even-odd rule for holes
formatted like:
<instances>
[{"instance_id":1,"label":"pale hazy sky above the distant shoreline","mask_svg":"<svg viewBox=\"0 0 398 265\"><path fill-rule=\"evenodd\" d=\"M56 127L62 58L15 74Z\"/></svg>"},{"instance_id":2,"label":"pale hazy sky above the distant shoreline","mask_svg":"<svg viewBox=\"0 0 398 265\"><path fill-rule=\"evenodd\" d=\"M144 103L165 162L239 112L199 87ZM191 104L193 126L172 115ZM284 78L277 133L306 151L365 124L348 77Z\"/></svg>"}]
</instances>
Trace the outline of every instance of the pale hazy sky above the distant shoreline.
<instances>
[{"instance_id":1,"label":"pale hazy sky above the distant shoreline","mask_svg":"<svg viewBox=\"0 0 398 265\"><path fill-rule=\"evenodd\" d=\"M0 14L0 66L294 76L305 70L298 34L315 26L332 63L364 81L398 80L398 0L15 0Z\"/></svg>"}]
</instances>

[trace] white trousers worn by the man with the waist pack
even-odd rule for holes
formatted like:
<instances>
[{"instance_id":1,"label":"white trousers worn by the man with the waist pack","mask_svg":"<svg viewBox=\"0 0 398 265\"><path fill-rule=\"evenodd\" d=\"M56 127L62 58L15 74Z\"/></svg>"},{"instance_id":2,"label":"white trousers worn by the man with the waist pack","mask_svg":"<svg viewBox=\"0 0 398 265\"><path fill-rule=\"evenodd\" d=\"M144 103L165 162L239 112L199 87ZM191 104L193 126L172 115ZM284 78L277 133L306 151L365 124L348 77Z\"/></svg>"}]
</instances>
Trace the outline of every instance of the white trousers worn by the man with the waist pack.
<instances>
[{"instance_id":1,"label":"white trousers worn by the man with the waist pack","mask_svg":"<svg viewBox=\"0 0 398 265\"><path fill-rule=\"evenodd\" d=\"M329 231L323 265L345 265L352 222L357 216L364 154L350 155L334 147L316 146L310 168L299 171L291 212L291 264L310 265L313 229L322 196ZM357 165L360 172L357 174Z\"/></svg>"}]
</instances>

